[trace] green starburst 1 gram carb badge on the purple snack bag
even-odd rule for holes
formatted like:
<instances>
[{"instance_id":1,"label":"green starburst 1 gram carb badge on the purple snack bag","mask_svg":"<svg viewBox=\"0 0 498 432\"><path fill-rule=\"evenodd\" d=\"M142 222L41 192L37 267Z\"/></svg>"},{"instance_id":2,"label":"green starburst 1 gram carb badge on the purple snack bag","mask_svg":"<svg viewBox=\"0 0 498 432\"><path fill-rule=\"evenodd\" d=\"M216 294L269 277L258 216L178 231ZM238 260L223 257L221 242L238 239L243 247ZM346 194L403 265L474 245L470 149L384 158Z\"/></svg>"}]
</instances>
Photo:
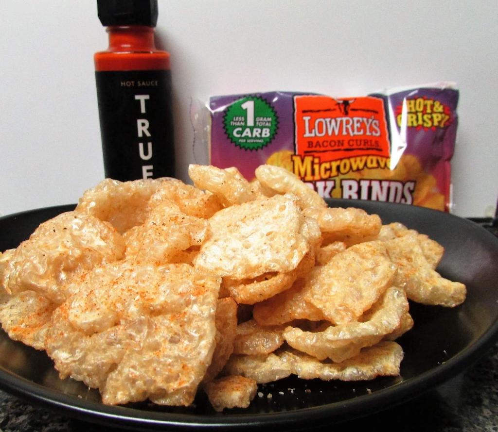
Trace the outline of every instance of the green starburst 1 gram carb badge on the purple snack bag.
<instances>
[{"instance_id":1,"label":"green starburst 1 gram carb badge on the purple snack bag","mask_svg":"<svg viewBox=\"0 0 498 432\"><path fill-rule=\"evenodd\" d=\"M257 150L267 146L278 128L273 107L257 96L236 100L223 118L227 137L238 147Z\"/></svg>"}]
</instances>

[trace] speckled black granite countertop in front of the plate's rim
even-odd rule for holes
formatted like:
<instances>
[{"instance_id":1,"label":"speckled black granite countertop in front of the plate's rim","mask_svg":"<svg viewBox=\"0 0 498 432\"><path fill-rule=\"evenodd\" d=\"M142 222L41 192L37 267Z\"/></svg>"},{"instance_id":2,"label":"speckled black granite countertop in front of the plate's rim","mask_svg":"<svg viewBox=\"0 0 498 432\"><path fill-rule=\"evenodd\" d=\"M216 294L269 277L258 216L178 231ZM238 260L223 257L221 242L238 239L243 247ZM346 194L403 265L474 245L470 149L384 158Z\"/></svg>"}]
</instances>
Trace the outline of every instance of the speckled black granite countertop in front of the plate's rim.
<instances>
[{"instance_id":1,"label":"speckled black granite countertop in front of the plate's rim","mask_svg":"<svg viewBox=\"0 0 498 432\"><path fill-rule=\"evenodd\" d=\"M498 344L465 372L422 396L333 429L498 432ZM117 431L53 413L0 391L0 432L113 430ZM330 430L331 426L315 429Z\"/></svg>"}]
</instances>

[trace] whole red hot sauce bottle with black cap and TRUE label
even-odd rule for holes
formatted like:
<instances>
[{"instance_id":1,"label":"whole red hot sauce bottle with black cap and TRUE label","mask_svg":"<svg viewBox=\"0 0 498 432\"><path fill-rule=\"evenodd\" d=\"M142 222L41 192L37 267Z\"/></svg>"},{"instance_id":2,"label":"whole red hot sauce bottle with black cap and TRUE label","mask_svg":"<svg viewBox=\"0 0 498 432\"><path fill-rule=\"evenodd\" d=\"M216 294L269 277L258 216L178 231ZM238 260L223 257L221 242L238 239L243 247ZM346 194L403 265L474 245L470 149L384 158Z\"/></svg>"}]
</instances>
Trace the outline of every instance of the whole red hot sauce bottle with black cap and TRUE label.
<instances>
[{"instance_id":1,"label":"whole red hot sauce bottle with black cap and TRUE label","mask_svg":"<svg viewBox=\"0 0 498 432\"><path fill-rule=\"evenodd\" d=\"M109 48L95 54L106 177L174 176L169 53L157 50L157 0L97 0Z\"/></svg>"}]
</instances>

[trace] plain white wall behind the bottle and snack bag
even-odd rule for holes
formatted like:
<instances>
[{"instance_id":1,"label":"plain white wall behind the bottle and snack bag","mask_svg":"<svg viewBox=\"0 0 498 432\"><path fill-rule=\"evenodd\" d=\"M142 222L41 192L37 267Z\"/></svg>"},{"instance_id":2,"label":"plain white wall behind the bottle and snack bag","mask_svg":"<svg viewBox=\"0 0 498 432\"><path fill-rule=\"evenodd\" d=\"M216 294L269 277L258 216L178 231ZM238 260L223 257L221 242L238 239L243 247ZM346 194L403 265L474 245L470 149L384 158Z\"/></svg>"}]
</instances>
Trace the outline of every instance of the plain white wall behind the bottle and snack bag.
<instances>
[{"instance_id":1,"label":"plain white wall behind the bottle and snack bag","mask_svg":"<svg viewBox=\"0 0 498 432\"><path fill-rule=\"evenodd\" d=\"M0 213L76 202L103 178L94 0L0 0ZM159 0L179 176L193 162L190 98L268 90L366 94L456 81L454 212L497 203L497 0ZM204 162L204 161L200 161Z\"/></svg>"}]
</instances>

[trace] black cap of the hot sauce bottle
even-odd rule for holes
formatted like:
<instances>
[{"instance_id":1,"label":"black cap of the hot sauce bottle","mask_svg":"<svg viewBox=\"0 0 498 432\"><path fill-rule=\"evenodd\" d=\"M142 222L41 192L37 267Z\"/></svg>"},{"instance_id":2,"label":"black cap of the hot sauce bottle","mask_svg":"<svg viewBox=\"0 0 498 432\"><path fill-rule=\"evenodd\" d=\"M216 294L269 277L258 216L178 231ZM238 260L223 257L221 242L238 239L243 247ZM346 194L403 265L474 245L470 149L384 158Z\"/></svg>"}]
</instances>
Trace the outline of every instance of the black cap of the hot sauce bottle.
<instances>
[{"instance_id":1,"label":"black cap of the hot sauce bottle","mask_svg":"<svg viewBox=\"0 0 498 432\"><path fill-rule=\"evenodd\" d=\"M97 13L104 26L157 24L157 0L97 0Z\"/></svg>"}]
</instances>

